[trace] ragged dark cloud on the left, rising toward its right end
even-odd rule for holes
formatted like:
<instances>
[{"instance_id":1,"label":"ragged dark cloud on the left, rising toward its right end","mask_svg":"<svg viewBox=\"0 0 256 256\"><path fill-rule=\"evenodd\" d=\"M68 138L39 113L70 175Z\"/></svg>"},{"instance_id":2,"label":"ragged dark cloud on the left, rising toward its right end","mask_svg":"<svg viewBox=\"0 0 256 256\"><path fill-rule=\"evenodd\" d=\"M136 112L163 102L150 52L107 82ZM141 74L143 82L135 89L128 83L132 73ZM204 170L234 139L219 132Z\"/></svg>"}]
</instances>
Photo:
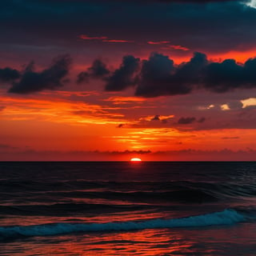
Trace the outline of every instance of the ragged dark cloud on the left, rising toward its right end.
<instances>
[{"instance_id":1,"label":"ragged dark cloud on the left, rising toward its right end","mask_svg":"<svg viewBox=\"0 0 256 256\"><path fill-rule=\"evenodd\" d=\"M55 90L63 86L63 78L70 70L71 58L62 55L54 58L51 66L41 72L34 71L34 62L26 67L19 82L14 82L10 93L30 94L41 90Z\"/></svg>"}]
</instances>

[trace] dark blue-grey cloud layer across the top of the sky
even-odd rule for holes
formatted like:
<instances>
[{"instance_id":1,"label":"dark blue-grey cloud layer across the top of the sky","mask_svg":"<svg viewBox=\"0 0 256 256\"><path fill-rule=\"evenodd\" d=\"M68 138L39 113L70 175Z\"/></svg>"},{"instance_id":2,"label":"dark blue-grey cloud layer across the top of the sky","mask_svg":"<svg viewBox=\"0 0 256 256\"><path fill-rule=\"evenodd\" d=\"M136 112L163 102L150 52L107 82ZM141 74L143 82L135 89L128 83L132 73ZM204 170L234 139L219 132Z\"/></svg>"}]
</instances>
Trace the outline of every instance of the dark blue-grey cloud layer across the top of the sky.
<instances>
[{"instance_id":1,"label":"dark blue-grey cloud layer across the top of the sky","mask_svg":"<svg viewBox=\"0 0 256 256\"><path fill-rule=\"evenodd\" d=\"M65 46L69 52L77 53L78 47L90 46L94 53L99 49L105 53L124 51L115 43L104 43L102 47L102 42L78 40L80 34L88 34L134 41L126 46L129 53L151 49L141 44L147 41L170 41L197 51L247 50L256 42L252 31L255 14L255 9L235 0L3 0L1 44L15 50L24 50L22 46L29 46L30 50L34 46L54 46L59 50Z\"/></svg>"}]
</instances>

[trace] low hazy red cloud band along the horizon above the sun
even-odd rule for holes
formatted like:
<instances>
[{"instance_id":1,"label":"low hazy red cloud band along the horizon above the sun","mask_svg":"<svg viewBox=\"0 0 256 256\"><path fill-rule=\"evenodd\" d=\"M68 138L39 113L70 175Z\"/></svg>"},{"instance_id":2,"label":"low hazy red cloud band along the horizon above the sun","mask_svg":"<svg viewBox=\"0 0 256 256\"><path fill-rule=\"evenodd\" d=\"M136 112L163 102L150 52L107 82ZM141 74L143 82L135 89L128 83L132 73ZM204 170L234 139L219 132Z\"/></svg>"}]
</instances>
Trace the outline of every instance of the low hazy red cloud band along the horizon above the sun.
<instances>
[{"instance_id":1,"label":"low hazy red cloud band along the horizon above the sun","mask_svg":"<svg viewBox=\"0 0 256 256\"><path fill-rule=\"evenodd\" d=\"M1 146L0 146L1 150ZM58 151L58 150L16 150L13 154L2 150L1 161L127 161L136 155L156 161L254 161L256 150L123 150L123 151ZM6 154L5 154L6 153ZM143 159L142 159L143 160Z\"/></svg>"}]
</instances>

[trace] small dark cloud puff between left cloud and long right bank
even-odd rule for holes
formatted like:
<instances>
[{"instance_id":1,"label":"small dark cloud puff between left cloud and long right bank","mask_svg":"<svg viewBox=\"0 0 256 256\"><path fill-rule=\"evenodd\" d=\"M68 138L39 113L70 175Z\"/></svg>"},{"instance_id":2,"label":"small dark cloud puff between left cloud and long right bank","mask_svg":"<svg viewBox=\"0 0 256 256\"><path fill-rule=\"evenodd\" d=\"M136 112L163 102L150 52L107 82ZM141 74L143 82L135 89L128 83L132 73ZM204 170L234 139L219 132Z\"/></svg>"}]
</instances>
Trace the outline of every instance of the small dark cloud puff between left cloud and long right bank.
<instances>
[{"instance_id":1,"label":"small dark cloud puff between left cloud and long right bank","mask_svg":"<svg viewBox=\"0 0 256 256\"><path fill-rule=\"evenodd\" d=\"M104 78L107 74L110 74L110 70L107 69L106 64L100 59L96 59L92 66L90 66L85 72L78 74L78 83L89 82L90 78Z\"/></svg>"}]
</instances>

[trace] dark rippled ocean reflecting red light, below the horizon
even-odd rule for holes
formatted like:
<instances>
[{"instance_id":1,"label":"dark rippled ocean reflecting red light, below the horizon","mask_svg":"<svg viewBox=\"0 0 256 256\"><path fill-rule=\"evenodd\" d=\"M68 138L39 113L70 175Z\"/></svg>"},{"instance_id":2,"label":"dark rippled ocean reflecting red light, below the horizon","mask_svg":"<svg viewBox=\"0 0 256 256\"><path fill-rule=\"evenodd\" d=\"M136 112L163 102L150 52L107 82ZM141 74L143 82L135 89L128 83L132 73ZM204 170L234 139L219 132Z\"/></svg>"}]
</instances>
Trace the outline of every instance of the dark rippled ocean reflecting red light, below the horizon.
<instances>
[{"instance_id":1,"label":"dark rippled ocean reflecting red light, below the horizon","mask_svg":"<svg viewBox=\"0 0 256 256\"><path fill-rule=\"evenodd\" d=\"M256 255L256 162L1 162L0 255Z\"/></svg>"}]
</instances>

